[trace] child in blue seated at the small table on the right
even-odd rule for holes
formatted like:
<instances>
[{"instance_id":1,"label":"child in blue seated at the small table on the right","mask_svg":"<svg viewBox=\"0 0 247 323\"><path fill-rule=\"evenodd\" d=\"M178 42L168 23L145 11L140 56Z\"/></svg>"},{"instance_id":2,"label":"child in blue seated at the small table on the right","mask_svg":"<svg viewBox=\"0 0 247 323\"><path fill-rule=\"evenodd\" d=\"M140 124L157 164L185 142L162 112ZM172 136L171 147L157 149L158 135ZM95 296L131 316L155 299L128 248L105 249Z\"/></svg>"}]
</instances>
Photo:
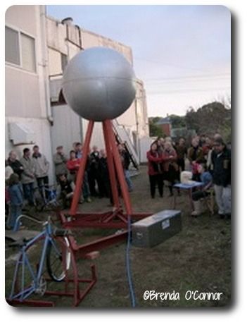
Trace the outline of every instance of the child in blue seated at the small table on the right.
<instances>
[{"instance_id":1,"label":"child in blue seated at the small table on the right","mask_svg":"<svg viewBox=\"0 0 247 323\"><path fill-rule=\"evenodd\" d=\"M194 204L194 212L191 213L192 217L196 217L202 213L201 210L201 198L208 196L210 193L207 192L208 188L213 183L213 178L209 171L207 171L207 166L205 164L198 164L198 174L200 176L200 180L203 183L203 187L201 190L197 190L192 193L192 200Z\"/></svg>"}]
</instances>

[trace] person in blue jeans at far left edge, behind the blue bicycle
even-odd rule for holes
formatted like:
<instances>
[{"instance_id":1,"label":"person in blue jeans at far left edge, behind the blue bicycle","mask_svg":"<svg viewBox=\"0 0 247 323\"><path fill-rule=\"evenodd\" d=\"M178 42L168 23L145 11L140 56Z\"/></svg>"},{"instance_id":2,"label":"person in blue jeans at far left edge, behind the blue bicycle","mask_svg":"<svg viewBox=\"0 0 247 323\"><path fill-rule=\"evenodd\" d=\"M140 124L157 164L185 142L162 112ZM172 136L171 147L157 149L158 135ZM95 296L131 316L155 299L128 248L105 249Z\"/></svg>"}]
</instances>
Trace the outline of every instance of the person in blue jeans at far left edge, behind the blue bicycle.
<instances>
[{"instance_id":1,"label":"person in blue jeans at far left edge, behind the blue bicycle","mask_svg":"<svg viewBox=\"0 0 247 323\"><path fill-rule=\"evenodd\" d=\"M11 201L11 214L8 218L8 226L18 231L20 225L17 224L15 226L15 221L20 216L23 207L23 188L17 173L12 173L9 178L8 193Z\"/></svg>"}]
</instances>

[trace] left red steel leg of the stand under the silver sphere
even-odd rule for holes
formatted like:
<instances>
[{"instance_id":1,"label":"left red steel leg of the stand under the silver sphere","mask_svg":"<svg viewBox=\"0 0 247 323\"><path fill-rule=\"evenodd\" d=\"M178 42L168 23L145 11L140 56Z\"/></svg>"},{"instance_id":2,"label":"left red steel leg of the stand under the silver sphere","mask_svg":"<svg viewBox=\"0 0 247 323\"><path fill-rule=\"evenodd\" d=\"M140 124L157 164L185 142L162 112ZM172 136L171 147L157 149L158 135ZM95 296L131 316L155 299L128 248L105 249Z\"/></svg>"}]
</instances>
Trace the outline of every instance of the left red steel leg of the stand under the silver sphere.
<instances>
[{"instance_id":1,"label":"left red steel leg of the stand under the silver sphere","mask_svg":"<svg viewBox=\"0 0 247 323\"><path fill-rule=\"evenodd\" d=\"M72 204L70 208L70 214L75 215L77 212L77 205L80 200L80 194L82 191L82 181L84 178L84 172L87 164L87 154L89 152L89 143L91 140L91 133L93 132L94 121L89 121L87 126L87 134L82 148L82 161L80 163L80 168L77 173L76 183L75 183L75 193L72 199Z\"/></svg>"}]
</instances>

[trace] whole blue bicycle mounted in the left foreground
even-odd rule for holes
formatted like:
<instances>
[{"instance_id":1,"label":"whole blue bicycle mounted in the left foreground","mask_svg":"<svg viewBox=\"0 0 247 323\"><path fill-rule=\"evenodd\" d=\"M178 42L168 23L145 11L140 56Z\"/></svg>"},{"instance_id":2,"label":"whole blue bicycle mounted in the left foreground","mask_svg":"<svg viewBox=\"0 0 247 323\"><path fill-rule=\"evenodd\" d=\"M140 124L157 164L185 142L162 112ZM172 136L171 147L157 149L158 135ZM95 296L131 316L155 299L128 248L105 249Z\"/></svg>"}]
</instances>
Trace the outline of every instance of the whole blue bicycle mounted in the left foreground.
<instances>
[{"instance_id":1,"label":"whole blue bicycle mounted in the left foreground","mask_svg":"<svg viewBox=\"0 0 247 323\"><path fill-rule=\"evenodd\" d=\"M45 262L47 272L53 281L63 281L70 269L71 252L68 240L70 231L53 227L51 217L43 223L21 215L16 222L18 223L23 217L42 224L44 230L31 240L19 241L21 250L15 264L9 303L13 301L21 303L32 294L44 295L46 292ZM44 243L41 243L40 257L37 262L37 245L40 245L38 243L40 240L44 240ZM36 262L35 265L34 262Z\"/></svg>"}]
</instances>

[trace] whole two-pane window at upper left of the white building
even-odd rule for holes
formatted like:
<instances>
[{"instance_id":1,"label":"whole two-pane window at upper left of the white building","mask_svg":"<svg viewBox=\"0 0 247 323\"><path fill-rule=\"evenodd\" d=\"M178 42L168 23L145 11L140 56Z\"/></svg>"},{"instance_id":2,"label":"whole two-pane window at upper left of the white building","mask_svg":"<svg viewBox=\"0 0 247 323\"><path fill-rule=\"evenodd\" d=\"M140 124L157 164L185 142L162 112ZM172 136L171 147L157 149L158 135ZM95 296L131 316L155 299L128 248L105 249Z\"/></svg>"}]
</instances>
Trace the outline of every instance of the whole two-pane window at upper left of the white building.
<instances>
[{"instance_id":1,"label":"whole two-pane window at upper left of the white building","mask_svg":"<svg viewBox=\"0 0 247 323\"><path fill-rule=\"evenodd\" d=\"M26 71L36 72L34 38L23 32L5 27L5 60Z\"/></svg>"}]
</instances>

